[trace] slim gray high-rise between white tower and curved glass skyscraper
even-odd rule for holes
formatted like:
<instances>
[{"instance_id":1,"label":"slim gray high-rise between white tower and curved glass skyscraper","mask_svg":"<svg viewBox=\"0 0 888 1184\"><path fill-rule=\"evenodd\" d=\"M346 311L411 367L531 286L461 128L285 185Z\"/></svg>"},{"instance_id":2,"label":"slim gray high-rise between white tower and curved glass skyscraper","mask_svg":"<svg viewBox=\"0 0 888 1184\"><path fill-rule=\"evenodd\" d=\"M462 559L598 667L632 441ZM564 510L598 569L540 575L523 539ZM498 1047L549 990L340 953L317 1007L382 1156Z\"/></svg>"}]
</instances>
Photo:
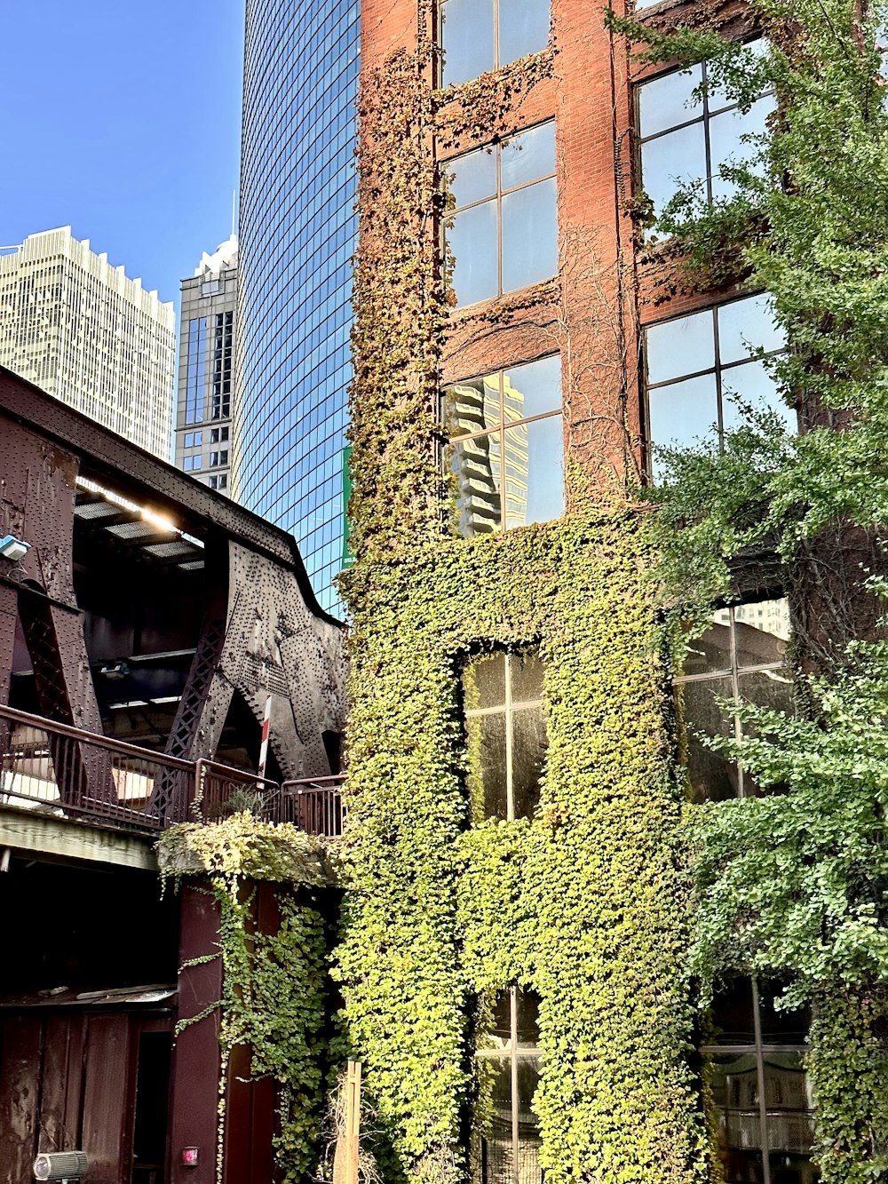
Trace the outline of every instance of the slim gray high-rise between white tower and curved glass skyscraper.
<instances>
[{"instance_id":1,"label":"slim gray high-rise between white tower and curved glass skyscraper","mask_svg":"<svg viewBox=\"0 0 888 1184\"><path fill-rule=\"evenodd\" d=\"M231 387L237 341L238 240L204 255L182 279L175 463L194 477L231 490Z\"/></svg>"}]
</instances>

